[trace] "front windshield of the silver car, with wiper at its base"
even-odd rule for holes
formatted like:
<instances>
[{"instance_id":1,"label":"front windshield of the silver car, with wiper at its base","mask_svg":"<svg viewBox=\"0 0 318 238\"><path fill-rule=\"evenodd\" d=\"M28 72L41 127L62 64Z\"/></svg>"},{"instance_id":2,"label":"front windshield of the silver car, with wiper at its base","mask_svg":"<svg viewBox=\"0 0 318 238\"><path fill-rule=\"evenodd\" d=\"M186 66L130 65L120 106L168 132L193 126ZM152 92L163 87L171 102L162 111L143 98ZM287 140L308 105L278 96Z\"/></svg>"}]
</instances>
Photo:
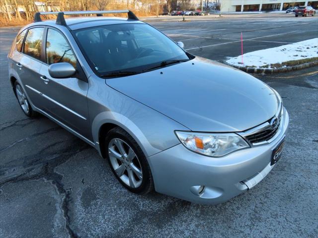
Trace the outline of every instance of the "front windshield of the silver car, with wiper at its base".
<instances>
[{"instance_id":1,"label":"front windshield of the silver car, with wiper at its base","mask_svg":"<svg viewBox=\"0 0 318 238\"><path fill-rule=\"evenodd\" d=\"M163 61L189 60L178 45L147 24L96 26L75 31L75 37L100 76L138 73L158 64L166 66Z\"/></svg>"}]
</instances>

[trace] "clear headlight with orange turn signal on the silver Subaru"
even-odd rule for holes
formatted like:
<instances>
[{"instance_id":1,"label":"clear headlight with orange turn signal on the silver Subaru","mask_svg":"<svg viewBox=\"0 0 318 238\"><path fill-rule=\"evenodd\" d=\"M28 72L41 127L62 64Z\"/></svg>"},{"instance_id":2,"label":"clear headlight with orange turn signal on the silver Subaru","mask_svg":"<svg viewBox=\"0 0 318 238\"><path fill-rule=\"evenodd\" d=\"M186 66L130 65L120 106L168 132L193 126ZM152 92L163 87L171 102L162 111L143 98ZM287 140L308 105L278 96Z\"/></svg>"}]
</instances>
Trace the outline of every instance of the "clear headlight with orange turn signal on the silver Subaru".
<instances>
[{"instance_id":1,"label":"clear headlight with orange turn signal on the silver Subaru","mask_svg":"<svg viewBox=\"0 0 318 238\"><path fill-rule=\"evenodd\" d=\"M201 133L175 131L181 143L197 153L220 157L247 148L247 142L235 133Z\"/></svg>"}]
</instances>

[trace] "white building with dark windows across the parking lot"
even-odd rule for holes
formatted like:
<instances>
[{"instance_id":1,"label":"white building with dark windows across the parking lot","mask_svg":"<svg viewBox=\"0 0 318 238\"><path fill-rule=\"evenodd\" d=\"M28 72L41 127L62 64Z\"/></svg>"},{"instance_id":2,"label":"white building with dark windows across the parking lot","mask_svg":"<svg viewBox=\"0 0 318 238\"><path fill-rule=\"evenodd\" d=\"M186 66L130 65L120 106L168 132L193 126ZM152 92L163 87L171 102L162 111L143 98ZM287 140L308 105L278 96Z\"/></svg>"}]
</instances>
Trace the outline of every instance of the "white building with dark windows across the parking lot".
<instances>
[{"instance_id":1,"label":"white building with dark windows across the parking lot","mask_svg":"<svg viewBox=\"0 0 318 238\"><path fill-rule=\"evenodd\" d=\"M318 0L222 0L221 11L282 11L302 5L318 8Z\"/></svg>"}]
</instances>

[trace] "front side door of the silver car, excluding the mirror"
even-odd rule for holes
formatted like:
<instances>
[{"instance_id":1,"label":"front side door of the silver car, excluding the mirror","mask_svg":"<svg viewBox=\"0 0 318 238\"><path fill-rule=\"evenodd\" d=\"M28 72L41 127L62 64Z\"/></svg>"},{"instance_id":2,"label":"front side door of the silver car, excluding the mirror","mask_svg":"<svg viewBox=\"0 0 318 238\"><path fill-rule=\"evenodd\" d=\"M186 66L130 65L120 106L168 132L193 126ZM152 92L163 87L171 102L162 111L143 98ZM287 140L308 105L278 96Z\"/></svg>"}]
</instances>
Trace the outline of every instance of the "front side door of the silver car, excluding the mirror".
<instances>
[{"instance_id":1,"label":"front side door of the silver car, excluding the mirror","mask_svg":"<svg viewBox=\"0 0 318 238\"><path fill-rule=\"evenodd\" d=\"M46 35L45 63L40 69L41 77L46 80L42 90L45 95L44 110L82 136L91 139L86 99L88 83L85 75L63 33L48 27ZM70 78L52 78L49 66L58 62L71 63L77 73Z\"/></svg>"}]
</instances>

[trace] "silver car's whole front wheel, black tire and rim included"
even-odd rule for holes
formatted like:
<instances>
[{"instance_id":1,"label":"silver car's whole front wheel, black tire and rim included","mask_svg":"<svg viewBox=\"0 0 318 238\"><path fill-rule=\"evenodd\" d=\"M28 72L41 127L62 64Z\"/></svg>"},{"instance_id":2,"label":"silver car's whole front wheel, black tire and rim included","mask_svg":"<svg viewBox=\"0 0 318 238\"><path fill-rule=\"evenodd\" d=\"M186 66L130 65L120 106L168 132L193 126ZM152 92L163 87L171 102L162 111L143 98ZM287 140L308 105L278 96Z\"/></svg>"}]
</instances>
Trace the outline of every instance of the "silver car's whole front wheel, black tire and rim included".
<instances>
[{"instance_id":1,"label":"silver car's whole front wheel, black tire and rim included","mask_svg":"<svg viewBox=\"0 0 318 238\"><path fill-rule=\"evenodd\" d=\"M115 127L107 133L104 146L109 166L124 187L137 194L147 194L154 189L146 156L130 134Z\"/></svg>"}]
</instances>

